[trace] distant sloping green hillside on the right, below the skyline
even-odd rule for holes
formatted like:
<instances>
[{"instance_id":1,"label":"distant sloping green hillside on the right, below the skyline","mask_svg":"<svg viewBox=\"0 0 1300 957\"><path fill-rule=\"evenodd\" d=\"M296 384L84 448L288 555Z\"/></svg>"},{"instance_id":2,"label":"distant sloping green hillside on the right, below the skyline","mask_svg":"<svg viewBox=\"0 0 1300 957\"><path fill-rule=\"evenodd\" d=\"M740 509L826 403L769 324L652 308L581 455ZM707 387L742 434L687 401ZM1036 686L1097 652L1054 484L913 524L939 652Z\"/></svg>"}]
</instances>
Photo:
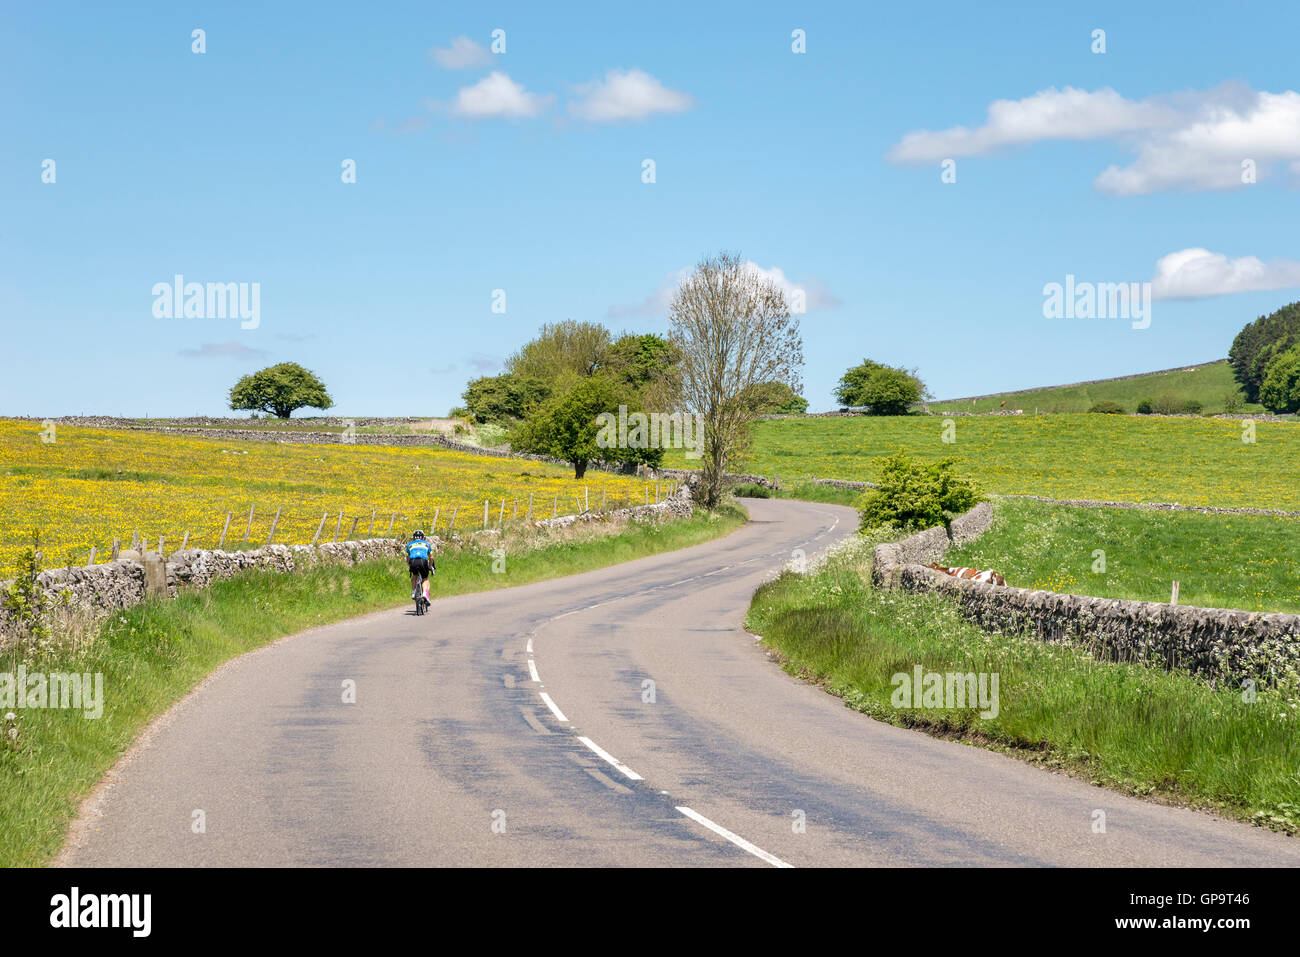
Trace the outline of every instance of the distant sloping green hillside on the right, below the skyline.
<instances>
[{"instance_id":1,"label":"distant sloping green hillside on the right, below the skyline","mask_svg":"<svg viewBox=\"0 0 1300 957\"><path fill-rule=\"evenodd\" d=\"M1088 385L1062 385L1048 389L1027 389L1005 393L987 399L966 402L931 402L931 412L991 412L996 408L1023 408L1026 413L1040 412L1087 412L1092 403L1109 399L1118 402L1126 412L1135 412L1141 399L1154 399L1157 395L1171 394L1183 399L1196 399L1204 412L1225 412L1228 397L1242 403L1239 412L1261 411L1257 404L1249 404L1242 395L1242 387L1232 378L1227 360L1192 365L1174 372L1150 372L1145 376L1092 382Z\"/></svg>"}]
</instances>

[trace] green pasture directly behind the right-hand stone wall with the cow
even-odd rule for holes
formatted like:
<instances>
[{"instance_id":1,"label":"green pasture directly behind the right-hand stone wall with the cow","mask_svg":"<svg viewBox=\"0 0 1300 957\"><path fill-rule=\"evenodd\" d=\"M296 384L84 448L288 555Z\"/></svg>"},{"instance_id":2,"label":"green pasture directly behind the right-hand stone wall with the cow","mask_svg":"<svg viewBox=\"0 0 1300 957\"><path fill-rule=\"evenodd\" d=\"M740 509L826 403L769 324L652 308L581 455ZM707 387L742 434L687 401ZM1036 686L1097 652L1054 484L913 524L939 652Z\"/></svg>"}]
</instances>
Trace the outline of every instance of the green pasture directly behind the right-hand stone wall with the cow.
<instances>
[{"instance_id":1,"label":"green pasture directly behind the right-hand stone wall with the cow","mask_svg":"<svg viewBox=\"0 0 1300 957\"><path fill-rule=\"evenodd\" d=\"M1300 612L1300 519L994 503L993 525L948 566L996 568L1006 584L1100 598ZM1097 550L1105 553L1104 571Z\"/></svg>"}]
</instances>

